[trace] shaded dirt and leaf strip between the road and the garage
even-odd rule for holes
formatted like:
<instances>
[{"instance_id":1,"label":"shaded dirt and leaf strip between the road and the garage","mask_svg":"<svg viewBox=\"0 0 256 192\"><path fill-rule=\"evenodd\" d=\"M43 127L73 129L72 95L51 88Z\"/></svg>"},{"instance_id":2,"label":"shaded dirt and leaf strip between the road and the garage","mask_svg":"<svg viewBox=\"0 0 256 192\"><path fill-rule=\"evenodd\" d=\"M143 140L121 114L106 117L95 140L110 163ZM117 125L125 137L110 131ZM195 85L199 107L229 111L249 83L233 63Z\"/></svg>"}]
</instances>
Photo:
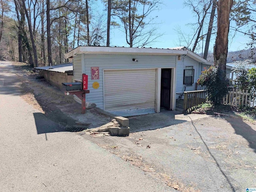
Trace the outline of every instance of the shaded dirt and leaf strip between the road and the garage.
<instances>
[{"instance_id":1,"label":"shaded dirt and leaf strip between the road and the garage","mask_svg":"<svg viewBox=\"0 0 256 192\"><path fill-rule=\"evenodd\" d=\"M84 123L85 128L99 127L111 121L111 118L94 109L86 110L86 115L81 114L81 104L75 102L73 96L66 96L64 90L59 90L44 80L37 80L37 74L24 65L16 66L16 69L23 90L21 97L51 120L64 126L76 125L75 122L79 121Z\"/></svg>"}]
</instances>

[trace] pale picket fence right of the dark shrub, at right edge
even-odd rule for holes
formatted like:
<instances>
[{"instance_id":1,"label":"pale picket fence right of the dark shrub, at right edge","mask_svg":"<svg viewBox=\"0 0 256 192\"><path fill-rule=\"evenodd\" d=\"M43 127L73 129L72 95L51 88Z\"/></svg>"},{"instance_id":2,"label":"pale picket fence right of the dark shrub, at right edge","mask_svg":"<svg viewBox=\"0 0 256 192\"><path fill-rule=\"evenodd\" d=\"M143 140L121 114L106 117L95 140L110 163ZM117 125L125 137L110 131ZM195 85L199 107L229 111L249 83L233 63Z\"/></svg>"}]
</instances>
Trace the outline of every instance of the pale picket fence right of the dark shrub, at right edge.
<instances>
[{"instance_id":1,"label":"pale picket fence right of the dark shrub, at right edge","mask_svg":"<svg viewBox=\"0 0 256 192\"><path fill-rule=\"evenodd\" d=\"M234 90L229 91L223 98L223 104L242 106L242 107L254 107L256 106L256 93L250 93L248 90Z\"/></svg>"}]
</instances>

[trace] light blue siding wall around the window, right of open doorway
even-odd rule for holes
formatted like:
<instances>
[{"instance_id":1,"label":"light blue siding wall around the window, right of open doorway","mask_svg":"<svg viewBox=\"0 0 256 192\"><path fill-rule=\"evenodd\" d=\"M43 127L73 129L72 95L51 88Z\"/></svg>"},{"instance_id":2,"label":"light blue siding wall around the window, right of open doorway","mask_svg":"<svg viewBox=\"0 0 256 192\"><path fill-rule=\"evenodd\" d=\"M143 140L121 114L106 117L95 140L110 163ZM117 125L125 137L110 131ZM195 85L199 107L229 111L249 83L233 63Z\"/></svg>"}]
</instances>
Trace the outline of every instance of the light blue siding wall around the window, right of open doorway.
<instances>
[{"instance_id":1,"label":"light blue siding wall around the window, right of open doorway","mask_svg":"<svg viewBox=\"0 0 256 192\"><path fill-rule=\"evenodd\" d=\"M194 91L196 88L196 81L197 81L197 61L191 59L188 56L185 56L180 61L178 61L177 71L176 71L176 93L182 94L185 89L185 85L183 84L183 72L186 66L193 66L195 70L194 73L194 83L192 86L186 86L186 91ZM176 99L179 98L179 94L176 94Z\"/></svg>"}]
</instances>

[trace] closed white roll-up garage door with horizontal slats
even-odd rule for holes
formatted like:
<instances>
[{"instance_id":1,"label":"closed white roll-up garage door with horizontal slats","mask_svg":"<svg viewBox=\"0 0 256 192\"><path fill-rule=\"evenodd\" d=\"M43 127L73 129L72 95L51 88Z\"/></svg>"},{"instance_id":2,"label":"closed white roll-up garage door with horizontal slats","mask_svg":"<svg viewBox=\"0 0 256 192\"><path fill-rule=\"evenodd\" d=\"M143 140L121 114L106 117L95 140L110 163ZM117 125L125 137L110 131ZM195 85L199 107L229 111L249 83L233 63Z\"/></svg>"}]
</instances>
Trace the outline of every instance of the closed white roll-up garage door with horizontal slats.
<instances>
[{"instance_id":1,"label":"closed white roll-up garage door with horizontal slats","mask_svg":"<svg viewBox=\"0 0 256 192\"><path fill-rule=\"evenodd\" d=\"M156 69L104 71L104 109L119 116L155 112Z\"/></svg>"}]
</instances>

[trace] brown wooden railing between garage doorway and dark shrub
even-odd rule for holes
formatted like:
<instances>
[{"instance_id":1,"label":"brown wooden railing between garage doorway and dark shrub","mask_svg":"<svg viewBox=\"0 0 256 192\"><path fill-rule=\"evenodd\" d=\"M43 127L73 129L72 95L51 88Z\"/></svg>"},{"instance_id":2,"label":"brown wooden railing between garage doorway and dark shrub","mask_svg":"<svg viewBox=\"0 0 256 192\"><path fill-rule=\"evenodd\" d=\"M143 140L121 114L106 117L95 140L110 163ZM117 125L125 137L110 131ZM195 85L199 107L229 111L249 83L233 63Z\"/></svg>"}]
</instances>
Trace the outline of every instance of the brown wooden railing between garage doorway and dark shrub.
<instances>
[{"instance_id":1,"label":"brown wooden railing between garage doorway and dark shrub","mask_svg":"<svg viewBox=\"0 0 256 192\"><path fill-rule=\"evenodd\" d=\"M206 92L204 90L185 91L184 92L184 112L192 110L194 106L198 106L206 102Z\"/></svg>"}]
</instances>

